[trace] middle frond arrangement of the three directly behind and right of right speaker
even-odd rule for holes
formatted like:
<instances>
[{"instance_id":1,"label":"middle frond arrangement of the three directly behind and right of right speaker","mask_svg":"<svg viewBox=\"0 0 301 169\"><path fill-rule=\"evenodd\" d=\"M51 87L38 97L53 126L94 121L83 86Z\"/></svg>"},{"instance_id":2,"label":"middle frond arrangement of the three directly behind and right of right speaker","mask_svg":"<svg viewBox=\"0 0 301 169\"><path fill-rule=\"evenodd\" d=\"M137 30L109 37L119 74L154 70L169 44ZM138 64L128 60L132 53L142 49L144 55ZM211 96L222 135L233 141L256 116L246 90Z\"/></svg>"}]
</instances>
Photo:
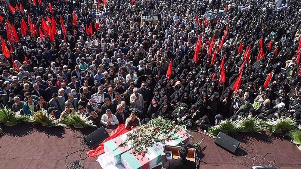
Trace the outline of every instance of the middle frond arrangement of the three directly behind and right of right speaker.
<instances>
[{"instance_id":1,"label":"middle frond arrangement of the three directly behind and right of right speaker","mask_svg":"<svg viewBox=\"0 0 301 169\"><path fill-rule=\"evenodd\" d=\"M244 117L239 120L239 130L242 132L261 133L265 128L257 117Z\"/></svg>"}]
</instances>

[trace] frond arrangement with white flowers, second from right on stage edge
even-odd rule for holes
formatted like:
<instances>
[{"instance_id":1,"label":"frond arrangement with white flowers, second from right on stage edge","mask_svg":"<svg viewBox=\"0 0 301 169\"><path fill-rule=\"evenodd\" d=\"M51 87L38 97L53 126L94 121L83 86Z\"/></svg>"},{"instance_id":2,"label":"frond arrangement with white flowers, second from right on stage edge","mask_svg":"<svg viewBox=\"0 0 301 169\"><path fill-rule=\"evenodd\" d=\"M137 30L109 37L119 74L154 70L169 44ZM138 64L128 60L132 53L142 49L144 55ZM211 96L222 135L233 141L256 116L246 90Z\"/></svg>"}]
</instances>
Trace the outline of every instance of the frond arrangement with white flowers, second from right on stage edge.
<instances>
[{"instance_id":1,"label":"frond arrangement with white flowers, second from right on stage edge","mask_svg":"<svg viewBox=\"0 0 301 169\"><path fill-rule=\"evenodd\" d=\"M297 122L290 117L280 117L273 121L264 121L263 125L269 133L282 133L283 130L290 130L296 127Z\"/></svg>"}]
</instances>

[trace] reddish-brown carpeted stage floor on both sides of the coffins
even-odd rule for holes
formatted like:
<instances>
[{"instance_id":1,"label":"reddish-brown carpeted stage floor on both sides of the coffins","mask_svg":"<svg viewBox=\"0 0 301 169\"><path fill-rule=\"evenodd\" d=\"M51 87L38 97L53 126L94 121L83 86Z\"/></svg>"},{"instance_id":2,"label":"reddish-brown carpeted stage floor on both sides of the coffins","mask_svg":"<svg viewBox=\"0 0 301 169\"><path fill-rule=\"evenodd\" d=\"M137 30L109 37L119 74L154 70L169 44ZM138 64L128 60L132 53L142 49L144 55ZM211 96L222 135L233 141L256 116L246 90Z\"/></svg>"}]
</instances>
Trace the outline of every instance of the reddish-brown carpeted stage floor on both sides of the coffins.
<instances>
[{"instance_id":1,"label":"reddish-brown carpeted stage floor on both sides of the coffins","mask_svg":"<svg viewBox=\"0 0 301 169\"><path fill-rule=\"evenodd\" d=\"M116 126L115 126L116 127ZM71 146L80 147L80 139L73 139L73 131L79 135L88 135L96 128L63 128L43 127L39 124L20 124L16 126L1 126L0 131L0 168L3 169L65 169L64 160L67 150ZM107 128L111 132L114 127ZM195 139L202 142L203 151L198 154L202 158L200 169L248 169L252 159L245 158L240 153L235 155L217 146L213 138L202 133L192 133ZM267 134L241 133L234 136L241 141L248 157L254 155L264 156L269 161L276 162L281 169L300 169L301 151L286 137L275 137ZM249 152L252 148L253 152ZM73 161L79 154L70 156L67 162ZM275 156L275 158L274 158ZM261 160L260 157L256 158ZM101 169L98 162L93 159L82 161L85 169ZM236 161L235 161L236 160ZM237 161L240 161L238 163ZM249 163L249 164L248 164ZM243 164L247 165L244 166ZM258 163L255 163L258 165ZM264 165L267 162L263 163ZM278 167L278 168L279 168ZM159 169L161 167L157 167Z\"/></svg>"}]
</instances>

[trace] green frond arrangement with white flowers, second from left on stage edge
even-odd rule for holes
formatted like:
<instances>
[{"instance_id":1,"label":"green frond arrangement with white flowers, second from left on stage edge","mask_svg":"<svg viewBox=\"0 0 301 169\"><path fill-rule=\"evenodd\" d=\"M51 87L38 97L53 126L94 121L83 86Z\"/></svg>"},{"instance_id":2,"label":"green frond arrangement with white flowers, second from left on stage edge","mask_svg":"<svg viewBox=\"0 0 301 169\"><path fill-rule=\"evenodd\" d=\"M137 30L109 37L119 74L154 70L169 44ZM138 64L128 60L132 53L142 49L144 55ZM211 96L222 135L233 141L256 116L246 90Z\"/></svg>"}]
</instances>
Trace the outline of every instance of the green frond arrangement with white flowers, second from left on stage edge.
<instances>
[{"instance_id":1,"label":"green frond arrangement with white flowers, second from left on stage edge","mask_svg":"<svg viewBox=\"0 0 301 169\"><path fill-rule=\"evenodd\" d=\"M43 108L41 108L40 111L32 112L30 121L46 127L65 126L64 124L59 123L59 121L55 119L53 115L47 114Z\"/></svg>"}]
</instances>

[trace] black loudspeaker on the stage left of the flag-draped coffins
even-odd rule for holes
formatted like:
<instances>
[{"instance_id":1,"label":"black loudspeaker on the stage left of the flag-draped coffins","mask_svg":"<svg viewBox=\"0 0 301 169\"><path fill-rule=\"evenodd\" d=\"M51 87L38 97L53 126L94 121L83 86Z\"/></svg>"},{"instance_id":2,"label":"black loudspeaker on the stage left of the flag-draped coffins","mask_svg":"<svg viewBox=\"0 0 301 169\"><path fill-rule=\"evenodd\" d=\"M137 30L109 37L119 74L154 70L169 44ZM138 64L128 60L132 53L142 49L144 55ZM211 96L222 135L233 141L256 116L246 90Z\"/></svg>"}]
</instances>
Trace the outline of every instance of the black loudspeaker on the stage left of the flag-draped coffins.
<instances>
[{"instance_id":1,"label":"black loudspeaker on the stage left of the flag-draped coffins","mask_svg":"<svg viewBox=\"0 0 301 169\"><path fill-rule=\"evenodd\" d=\"M105 139L107 139L108 137L110 137L108 132L104 129L104 127L101 127L99 129L95 130L93 133L86 136L85 142L90 149L93 149L99 143L101 143Z\"/></svg>"}]
</instances>

